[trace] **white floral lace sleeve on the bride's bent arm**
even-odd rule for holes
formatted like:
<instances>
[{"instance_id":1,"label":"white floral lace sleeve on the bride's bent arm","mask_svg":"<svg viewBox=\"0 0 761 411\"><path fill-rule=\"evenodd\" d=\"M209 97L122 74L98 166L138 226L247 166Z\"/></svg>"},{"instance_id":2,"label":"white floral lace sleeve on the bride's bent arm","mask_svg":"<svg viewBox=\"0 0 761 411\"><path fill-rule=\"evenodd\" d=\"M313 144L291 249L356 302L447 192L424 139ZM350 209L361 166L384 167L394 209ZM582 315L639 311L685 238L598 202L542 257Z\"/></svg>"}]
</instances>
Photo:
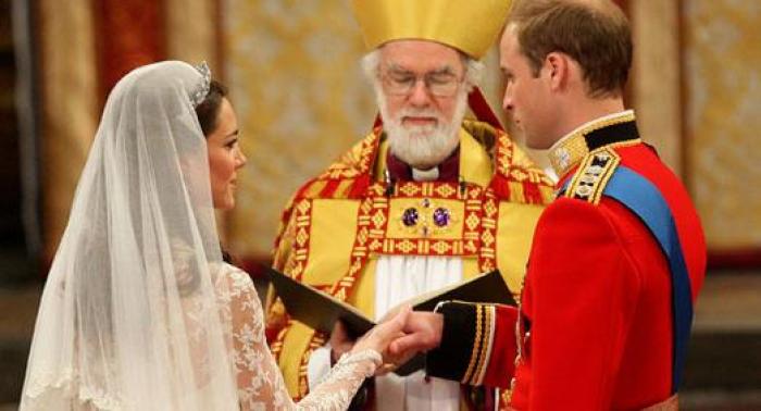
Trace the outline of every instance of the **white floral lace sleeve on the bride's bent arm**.
<instances>
[{"instance_id":1,"label":"white floral lace sleeve on the bride's bent arm","mask_svg":"<svg viewBox=\"0 0 761 411\"><path fill-rule=\"evenodd\" d=\"M233 358L241 409L347 409L364 378L375 372L380 356L373 350L345 356L322 384L299 403L294 403L266 345L263 309L253 283L248 274L232 266L226 276L226 306L233 324Z\"/></svg>"}]
</instances>

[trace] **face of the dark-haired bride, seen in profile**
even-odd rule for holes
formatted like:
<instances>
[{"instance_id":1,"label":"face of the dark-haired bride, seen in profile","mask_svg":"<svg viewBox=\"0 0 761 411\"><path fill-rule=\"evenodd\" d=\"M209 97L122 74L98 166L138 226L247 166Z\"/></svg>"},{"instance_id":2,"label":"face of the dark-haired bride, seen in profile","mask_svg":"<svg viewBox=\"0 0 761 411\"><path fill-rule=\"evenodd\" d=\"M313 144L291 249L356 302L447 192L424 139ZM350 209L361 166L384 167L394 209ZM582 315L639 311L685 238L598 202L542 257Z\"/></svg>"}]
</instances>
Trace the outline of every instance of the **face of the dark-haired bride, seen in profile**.
<instances>
[{"instance_id":1,"label":"face of the dark-haired bride, seen in profile","mask_svg":"<svg viewBox=\"0 0 761 411\"><path fill-rule=\"evenodd\" d=\"M207 136L207 147L214 208L230 210L235 207L237 172L246 165L246 155L238 141L238 119L226 98L220 105L216 128Z\"/></svg>"}]
</instances>

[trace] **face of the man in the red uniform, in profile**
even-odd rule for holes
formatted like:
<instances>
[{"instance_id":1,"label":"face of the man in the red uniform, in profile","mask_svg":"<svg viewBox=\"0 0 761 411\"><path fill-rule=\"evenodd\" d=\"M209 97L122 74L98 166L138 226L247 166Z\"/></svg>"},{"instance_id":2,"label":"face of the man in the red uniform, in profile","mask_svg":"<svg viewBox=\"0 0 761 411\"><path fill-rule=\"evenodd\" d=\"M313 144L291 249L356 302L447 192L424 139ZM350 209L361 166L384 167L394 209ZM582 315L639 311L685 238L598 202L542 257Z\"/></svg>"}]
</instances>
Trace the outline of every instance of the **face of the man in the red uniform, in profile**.
<instances>
[{"instance_id":1,"label":"face of the man in the red uniform, in profile","mask_svg":"<svg viewBox=\"0 0 761 411\"><path fill-rule=\"evenodd\" d=\"M542 71L535 75L528 59L521 52L515 26L509 25L499 46L499 64L504 74L506 88L502 108L523 132L526 146L548 149L554 141L551 133L552 101Z\"/></svg>"}]
</instances>

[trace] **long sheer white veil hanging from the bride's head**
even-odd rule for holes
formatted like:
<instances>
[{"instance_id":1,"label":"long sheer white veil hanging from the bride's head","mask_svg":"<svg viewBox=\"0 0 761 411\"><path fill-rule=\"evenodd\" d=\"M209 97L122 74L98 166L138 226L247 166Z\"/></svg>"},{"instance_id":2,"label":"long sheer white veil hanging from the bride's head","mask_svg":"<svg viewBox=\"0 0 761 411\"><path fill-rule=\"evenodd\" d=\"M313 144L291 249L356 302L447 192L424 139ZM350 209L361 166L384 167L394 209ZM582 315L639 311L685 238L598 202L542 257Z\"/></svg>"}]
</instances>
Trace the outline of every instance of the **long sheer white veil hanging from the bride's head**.
<instances>
[{"instance_id":1,"label":"long sheer white veil hanging from the bride's head","mask_svg":"<svg viewBox=\"0 0 761 411\"><path fill-rule=\"evenodd\" d=\"M195 112L209 77L161 62L109 96L40 302L22 410L238 409Z\"/></svg>"}]
</instances>

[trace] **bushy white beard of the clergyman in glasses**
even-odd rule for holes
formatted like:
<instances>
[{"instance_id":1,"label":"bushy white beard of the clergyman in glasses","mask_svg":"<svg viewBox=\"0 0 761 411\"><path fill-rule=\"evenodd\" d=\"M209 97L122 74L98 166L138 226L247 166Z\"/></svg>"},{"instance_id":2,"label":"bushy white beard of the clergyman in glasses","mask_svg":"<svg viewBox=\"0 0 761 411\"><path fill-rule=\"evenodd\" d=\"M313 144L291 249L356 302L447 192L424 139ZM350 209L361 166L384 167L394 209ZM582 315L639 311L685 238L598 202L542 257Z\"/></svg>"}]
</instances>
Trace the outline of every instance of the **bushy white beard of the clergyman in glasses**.
<instances>
[{"instance_id":1,"label":"bushy white beard of the clergyman in glasses","mask_svg":"<svg viewBox=\"0 0 761 411\"><path fill-rule=\"evenodd\" d=\"M399 160L416 169L428 169L446 160L458 146L460 126L467 108L466 92L461 91L456 96L457 105L449 122L434 109L401 109L396 117L391 117L383 89L377 88L376 96L389 148ZM404 116L431 116L437 122L435 126L406 126L401 123Z\"/></svg>"}]
</instances>

